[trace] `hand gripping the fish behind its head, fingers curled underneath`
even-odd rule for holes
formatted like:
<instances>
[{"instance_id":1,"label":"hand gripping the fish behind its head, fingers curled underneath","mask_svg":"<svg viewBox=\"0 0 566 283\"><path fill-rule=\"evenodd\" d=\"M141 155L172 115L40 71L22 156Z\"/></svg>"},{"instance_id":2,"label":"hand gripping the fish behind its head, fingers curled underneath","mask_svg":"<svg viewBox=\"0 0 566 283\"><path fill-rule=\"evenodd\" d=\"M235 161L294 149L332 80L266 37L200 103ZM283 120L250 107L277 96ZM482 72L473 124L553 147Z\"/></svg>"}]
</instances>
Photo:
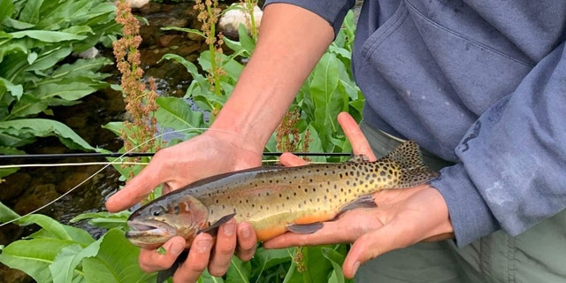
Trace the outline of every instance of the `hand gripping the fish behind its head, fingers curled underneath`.
<instances>
[{"instance_id":1,"label":"hand gripping the fish behind its head, fingers curled underneath","mask_svg":"<svg viewBox=\"0 0 566 283\"><path fill-rule=\"evenodd\" d=\"M262 149L250 148L243 137L226 131L207 131L187 142L162 149L149 165L128 181L126 187L106 202L109 211L125 210L139 203L151 190L163 184L163 193L184 187L222 172L247 169L261 164ZM208 233L195 237L187 260L173 276L175 282L194 282L208 266L211 275L226 273L230 260L237 249L242 260L249 260L255 253L256 233L247 223L234 220L218 229L216 241ZM140 265L145 272L168 269L186 248L186 241L174 237L164 243L165 254L156 249L142 249Z\"/></svg>"}]
</instances>

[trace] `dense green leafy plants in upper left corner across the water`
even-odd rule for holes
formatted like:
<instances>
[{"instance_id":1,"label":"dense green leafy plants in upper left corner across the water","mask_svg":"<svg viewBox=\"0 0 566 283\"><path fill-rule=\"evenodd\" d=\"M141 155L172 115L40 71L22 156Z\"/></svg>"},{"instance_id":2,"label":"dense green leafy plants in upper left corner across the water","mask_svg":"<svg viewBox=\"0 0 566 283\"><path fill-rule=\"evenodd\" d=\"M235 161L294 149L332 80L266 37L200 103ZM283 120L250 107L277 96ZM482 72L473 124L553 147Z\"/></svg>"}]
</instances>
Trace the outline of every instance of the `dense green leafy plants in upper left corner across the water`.
<instances>
[{"instance_id":1,"label":"dense green leafy plants in upper left corner across the water","mask_svg":"<svg viewBox=\"0 0 566 283\"><path fill-rule=\"evenodd\" d=\"M98 70L110 60L70 55L118 33L109 1L0 0L0 154L23 153L22 146L47 135L93 150L68 126L37 115L108 88L108 75ZM0 178L11 172L0 170Z\"/></svg>"}]
</instances>

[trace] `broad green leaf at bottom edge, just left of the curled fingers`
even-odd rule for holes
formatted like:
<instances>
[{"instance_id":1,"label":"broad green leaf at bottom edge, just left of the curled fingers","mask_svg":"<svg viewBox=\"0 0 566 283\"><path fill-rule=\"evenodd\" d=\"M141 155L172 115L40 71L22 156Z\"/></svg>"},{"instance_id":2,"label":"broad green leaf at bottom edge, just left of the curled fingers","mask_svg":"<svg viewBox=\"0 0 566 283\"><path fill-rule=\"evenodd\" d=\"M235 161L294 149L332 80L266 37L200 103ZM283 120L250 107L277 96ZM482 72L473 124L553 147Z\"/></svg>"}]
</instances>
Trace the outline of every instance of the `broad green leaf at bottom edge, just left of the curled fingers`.
<instances>
[{"instance_id":1,"label":"broad green leaf at bottom edge, just left of the curled fingers","mask_svg":"<svg viewBox=\"0 0 566 283\"><path fill-rule=\"evenodd\" d=\"M138 264L140 249L112 229L104 234L96 257L82 262L82 271L89 283L155 282L156 273L145 273Z\"/></svg>"}]
</instances>

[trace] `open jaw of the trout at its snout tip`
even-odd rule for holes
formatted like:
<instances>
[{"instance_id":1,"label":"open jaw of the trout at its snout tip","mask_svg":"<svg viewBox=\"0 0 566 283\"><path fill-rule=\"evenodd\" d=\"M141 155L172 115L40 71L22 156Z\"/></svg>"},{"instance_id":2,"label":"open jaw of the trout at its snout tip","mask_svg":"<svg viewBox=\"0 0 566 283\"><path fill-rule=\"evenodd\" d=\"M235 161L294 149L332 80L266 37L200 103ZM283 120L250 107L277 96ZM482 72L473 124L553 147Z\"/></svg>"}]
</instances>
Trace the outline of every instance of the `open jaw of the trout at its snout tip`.
<instances>
[{"instance_id":1,"label":"open jaw of the trout at its snout tip","mask_svg":"<svg viewBox=\"0 0 566 283\"><path fill-rule=\"evenodd\" d=\"M156 220L128 220L126 239L142 249L157 249L177 235L177 228Z\"/></svg>"}]
</instances>

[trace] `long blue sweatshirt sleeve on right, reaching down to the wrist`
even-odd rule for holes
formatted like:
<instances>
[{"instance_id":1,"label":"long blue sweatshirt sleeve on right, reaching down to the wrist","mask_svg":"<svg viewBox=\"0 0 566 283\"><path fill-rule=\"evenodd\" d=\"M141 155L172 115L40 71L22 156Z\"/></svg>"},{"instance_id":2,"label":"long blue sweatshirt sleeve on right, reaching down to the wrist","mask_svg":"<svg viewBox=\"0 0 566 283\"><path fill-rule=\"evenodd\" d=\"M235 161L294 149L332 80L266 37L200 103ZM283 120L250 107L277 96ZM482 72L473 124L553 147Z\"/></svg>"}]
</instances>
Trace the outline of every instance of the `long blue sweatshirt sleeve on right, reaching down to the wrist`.
<instances>
[{"instance_id":1,"label":"long blue sweatshirt sleeve on right, reaching down to the wrist","mask_svg":"<svg viewBox=\"0 0 566 283\"><path fill-rule=\"evenodd\" d=\"M564 210L564 42L479 117L455 154L459 163L431 185L447 202L458 246L498 229L523 233Z\"/></svg>"}]
</instances>

